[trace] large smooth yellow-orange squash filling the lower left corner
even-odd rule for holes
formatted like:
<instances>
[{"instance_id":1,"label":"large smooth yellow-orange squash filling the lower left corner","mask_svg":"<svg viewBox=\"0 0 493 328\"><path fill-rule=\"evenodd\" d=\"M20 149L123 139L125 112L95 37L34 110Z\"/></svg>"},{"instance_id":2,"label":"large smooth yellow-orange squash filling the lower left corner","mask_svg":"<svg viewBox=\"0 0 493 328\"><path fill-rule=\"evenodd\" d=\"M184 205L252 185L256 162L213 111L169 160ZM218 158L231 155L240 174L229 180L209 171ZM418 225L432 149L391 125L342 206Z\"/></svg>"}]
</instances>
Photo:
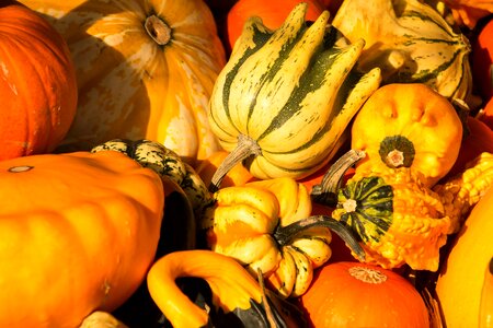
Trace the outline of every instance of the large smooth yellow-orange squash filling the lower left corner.
<instances>
[{"instance_id":1,"label":"large smooth yellow-orange squash filling the lower left corner","mask_svg":"<svg viewBox=\"0 0 493 328\"><path fill-rule=\"evenodd\" d=\"M117 152L23 156L0 162L0 327L79 327L144 281L164 202L153 171Z\"/></svg>"}]
</instances>

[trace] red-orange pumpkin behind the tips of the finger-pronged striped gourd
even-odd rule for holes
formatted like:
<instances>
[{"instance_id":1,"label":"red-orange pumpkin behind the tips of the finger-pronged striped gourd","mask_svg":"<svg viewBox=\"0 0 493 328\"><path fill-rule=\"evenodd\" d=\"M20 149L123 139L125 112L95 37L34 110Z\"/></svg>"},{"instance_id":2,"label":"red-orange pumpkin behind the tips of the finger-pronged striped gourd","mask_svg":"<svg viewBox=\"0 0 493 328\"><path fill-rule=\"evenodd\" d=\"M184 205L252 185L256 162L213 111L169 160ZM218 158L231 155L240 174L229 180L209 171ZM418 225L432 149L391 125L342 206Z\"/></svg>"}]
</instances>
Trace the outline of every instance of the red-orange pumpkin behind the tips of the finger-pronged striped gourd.
<instances>
[{"instance_id":1,"label":"red-orange pumpkin behind the tips of the finger-pronged striped gourd","mask_svg":"<svg viewBox=\"0 0 493 328\"><path fill-rule=\"evenodd\" d=\"M317 0L239 0L226 19L228 50L233 48L249 17L260 16L266 27L276 30L299 2L308 3L305 16L307 21L316 21L323 12L323 7Z\"/></svg>"}]
</instances>

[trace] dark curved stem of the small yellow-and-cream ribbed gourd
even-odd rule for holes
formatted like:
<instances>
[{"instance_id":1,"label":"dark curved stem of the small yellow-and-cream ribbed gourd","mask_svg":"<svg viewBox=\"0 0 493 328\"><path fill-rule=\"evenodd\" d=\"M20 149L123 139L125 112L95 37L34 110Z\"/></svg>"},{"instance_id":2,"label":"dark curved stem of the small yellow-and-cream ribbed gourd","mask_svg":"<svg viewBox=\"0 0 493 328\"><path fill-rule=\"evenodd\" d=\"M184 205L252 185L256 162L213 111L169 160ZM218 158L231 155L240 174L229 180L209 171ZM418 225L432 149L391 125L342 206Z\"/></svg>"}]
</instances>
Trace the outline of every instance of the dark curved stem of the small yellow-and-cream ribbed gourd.
<instances>
[{"instance_id":1,"label":"dark curved stem of the small yellow-and-cream ribbed gourd","mask_svg":"<svg viewBox=\"0 0 493 328\"><path fill-rule=\"evenodd\" d=\"M347 246L349 246L353 253L355 253L360 260L365 259L365 250L357 242L353 232L347 226L329 215L312 215L286 226L277 226L274 232L274 238L280 246L284 246L290 243L291 239L299 235L300 232L313 226L329 227L331 231L336 233L347 244Z\"/></svg>"}]
</instances>

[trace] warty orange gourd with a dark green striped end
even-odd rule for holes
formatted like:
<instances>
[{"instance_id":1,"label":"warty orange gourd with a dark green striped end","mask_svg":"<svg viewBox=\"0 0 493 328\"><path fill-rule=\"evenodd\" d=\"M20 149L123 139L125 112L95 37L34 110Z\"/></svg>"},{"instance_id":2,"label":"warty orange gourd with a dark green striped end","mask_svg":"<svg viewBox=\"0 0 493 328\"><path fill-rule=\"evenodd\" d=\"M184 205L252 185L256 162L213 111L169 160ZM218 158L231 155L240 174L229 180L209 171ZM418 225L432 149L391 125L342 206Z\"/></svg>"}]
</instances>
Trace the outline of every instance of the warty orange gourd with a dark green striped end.
<instances>
[{"instance_id":1,"label":"warty orange gourd with a dark green striped end","mask_svg":"<svg viewBox=\"0 0 493 328\"><path fill-rule=\"evenodd\" d=\"M356 168L337 192L332 215L359 237L365 261L383 268L408 263L436 271L447 242L450 218L439 196L425 187L412 168L372 173Z\"/></svg>"}]
</instances>

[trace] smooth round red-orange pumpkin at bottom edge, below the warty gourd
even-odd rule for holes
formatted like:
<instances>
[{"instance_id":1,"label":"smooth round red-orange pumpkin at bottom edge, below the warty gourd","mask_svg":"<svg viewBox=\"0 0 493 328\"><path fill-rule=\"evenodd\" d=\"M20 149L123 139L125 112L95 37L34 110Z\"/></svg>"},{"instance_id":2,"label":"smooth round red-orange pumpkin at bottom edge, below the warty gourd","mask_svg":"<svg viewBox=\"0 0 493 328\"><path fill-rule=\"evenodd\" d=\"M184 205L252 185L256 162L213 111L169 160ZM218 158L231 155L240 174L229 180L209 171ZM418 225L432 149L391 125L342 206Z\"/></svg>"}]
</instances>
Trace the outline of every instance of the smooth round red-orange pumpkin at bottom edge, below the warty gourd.
<instances>
[{"instance_id":1,"label":"smooth round red-orange pumpkin at bottom edge, below the warty gourd","mask_svg":"<svg viewBox=\"0 0 493 328\"><path fill-rule=\"evenodd\" d=\"M367 272L372 282L355 278ZM393 271L367 263L321 267L300 306L310 327L317 328L429 327L426 305L414 286Z\"/></svg>"}]
</instances>

